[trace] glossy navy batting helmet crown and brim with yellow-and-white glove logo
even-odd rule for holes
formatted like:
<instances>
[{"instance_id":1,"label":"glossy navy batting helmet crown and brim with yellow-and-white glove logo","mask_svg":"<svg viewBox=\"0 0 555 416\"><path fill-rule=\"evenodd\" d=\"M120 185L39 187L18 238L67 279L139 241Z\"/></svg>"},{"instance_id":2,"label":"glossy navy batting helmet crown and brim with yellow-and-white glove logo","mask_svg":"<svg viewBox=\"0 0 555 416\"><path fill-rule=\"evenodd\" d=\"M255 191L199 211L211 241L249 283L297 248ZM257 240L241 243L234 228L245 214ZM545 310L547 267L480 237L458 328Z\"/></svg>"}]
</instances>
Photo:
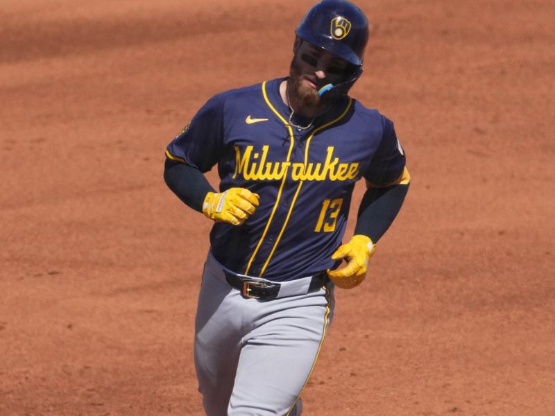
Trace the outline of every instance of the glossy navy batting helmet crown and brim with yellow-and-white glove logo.
<instances>
[{"instance_id":1,"label":"glossy navy batting helmet crown and brim with yellow-and-white glove logo","mask_svg":"<svg viewBox=\"0 0 555 416\"><path fill-rule=\"evenodd\" d=\"M368 19L345 0L322 0L300 21L296 34L339 58L361 67L368 42Z\"/></svg>"}]
</instances>

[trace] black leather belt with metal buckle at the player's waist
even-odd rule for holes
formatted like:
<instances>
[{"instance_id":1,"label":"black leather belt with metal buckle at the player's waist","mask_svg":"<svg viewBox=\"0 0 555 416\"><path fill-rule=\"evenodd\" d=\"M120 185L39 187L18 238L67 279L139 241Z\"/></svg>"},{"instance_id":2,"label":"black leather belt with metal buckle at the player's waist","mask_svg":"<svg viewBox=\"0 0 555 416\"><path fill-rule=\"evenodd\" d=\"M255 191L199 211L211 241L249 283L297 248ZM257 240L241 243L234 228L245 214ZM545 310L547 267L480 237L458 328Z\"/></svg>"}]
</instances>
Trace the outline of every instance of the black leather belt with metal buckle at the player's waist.
<instances>
[{"instance_id":1,"label":"black leather belt with metal buckle at the player's waist","mask_svg":"<svg viewBox=\"0 0 555 416\"><path fill-rule=\"evenodd\" d=\"M260 300L273 300L277 298L278 293L280 293L281 284L278 281L268 283L265 281L250 280L248 277L233 275L225 270L223 270L223 273L225 275L225 280L228 281L228 284L236 289L239 289L243 297L253 297ZM316 275L312 276L307 293L321 288L327 283L328 279L329 278L327 277L327 272L325 270L316 273Z\"/></svg>"}]
</instances>

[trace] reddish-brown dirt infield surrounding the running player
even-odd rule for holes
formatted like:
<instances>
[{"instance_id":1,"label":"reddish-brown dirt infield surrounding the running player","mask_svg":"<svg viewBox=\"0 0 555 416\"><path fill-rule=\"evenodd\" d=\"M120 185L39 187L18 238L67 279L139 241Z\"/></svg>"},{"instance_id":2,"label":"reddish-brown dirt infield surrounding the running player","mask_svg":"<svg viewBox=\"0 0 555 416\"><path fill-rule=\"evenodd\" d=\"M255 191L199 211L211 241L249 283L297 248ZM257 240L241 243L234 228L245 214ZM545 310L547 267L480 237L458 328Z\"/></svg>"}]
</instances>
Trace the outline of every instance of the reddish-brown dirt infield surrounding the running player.
<instances>
[{"instance_id":1,"label":"reddish-brown dirt infield surrounding the running player","mask_svg":"<svg viewBox=\"0 0 555 416\"><path fill-rule=\"evenodd\" d=\"M0 415L202 415L210 221L165 187L165 146L287 74L312 1L1 3ZM553 1L359 5L352 95L395 121L412 184L336 291L305 414L555 415Z\"/></svg>"}]
</instances>

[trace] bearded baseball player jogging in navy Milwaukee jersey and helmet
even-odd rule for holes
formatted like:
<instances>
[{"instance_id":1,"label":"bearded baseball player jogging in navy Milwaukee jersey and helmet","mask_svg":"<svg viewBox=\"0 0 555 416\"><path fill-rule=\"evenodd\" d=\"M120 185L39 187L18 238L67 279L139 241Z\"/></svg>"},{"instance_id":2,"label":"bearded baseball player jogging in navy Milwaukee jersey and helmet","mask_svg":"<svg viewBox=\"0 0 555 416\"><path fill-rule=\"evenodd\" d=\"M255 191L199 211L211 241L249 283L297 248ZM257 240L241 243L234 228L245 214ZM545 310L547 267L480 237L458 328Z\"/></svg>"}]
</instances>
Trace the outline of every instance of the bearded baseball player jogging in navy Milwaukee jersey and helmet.
<instances>
[{"instance_id":1,"label":"bearded baseball player jogging in navy Milwaukee jersey and helmet","mask_svg":"<svg viewBox=\"0 0 555 416\"><path fill-rule=\"evenodd\" d=\"M409 173L393 123L348 96L367 40L357 6L317 3L296 28L289 76L213 96L167 147L168 187L214 221L195 322L209 416L300 415L334 287L361 284L400 210ZM217 191L203 175L216 165Z\"/></svg>"}]
</instances>

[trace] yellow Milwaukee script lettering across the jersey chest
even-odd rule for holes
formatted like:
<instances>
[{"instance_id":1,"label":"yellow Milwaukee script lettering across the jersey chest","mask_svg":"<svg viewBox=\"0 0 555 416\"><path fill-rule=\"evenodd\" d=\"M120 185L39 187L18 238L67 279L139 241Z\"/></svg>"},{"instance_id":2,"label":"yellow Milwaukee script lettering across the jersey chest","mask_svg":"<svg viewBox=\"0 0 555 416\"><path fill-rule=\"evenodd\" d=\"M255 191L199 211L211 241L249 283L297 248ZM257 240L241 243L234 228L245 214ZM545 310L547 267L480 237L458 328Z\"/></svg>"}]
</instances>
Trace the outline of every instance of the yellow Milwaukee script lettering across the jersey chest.
<instances>
[{"instance_id":1,"label":"yellow Milwaukee script lettering across the jersey chest","mask_svg":"<svg viewBox=\"0 0 555 416\"><path fill-rule=\"evenodd\" d=\"M262 155L255 152L255 146L247 146L241 154L239 146L235 148L235 173L243 175L246 180L280 180L289 169L293 180L349 180L359 174L358 163L339 163L339 157L333 157L334 147L327 148L324 163L309 162L266 162L270 146L262 146Z\"/></svg>"}]
</instances>

